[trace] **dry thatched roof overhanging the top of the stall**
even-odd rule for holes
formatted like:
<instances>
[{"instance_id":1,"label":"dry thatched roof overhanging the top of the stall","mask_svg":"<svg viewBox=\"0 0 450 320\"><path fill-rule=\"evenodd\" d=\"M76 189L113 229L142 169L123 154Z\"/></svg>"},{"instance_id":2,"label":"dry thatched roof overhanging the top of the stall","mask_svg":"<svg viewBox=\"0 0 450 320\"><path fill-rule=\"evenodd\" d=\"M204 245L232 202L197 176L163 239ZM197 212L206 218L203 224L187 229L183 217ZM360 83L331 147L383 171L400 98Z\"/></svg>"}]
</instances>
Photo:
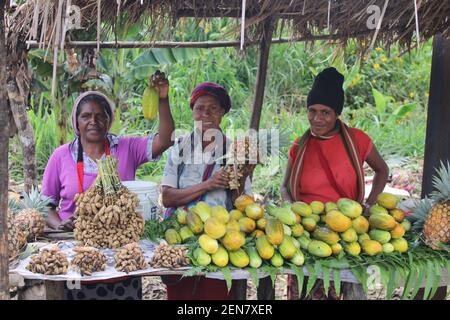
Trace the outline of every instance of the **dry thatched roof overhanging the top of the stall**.
<instances>
[{"instance_id":1,"label":"dry thatched roof overhanging the top of the stall","mask_svg":"<svg viewBox=\"0 0 450 320\"><path fill-rule=\"evenodd\" d=\"M141 18L150 20L150 40L161 39L163 26L176 26L183 17L211 18L232 17L240 19L242 0L101 0L101 22L106 31L113 29L118 16L124 16L126 23L135 23ZM449 0L247 0L246 36L257 39L262 34L263 22L276 19L274 35L288 32L291 37L314 40L315 36L330 36L345 42L348 38L364 40L362 43L398 42L410 46L415 43L416 28L420 40L426 40L437 33L450 35ZM67 4L81 8L83 28L98 23L97 0L30 0L19 7L12 20L15 36L29 33L37 41L47 40L58 25L58 4L61 3L61 20L64 21L64 7ZM379 32L373 29L378 20L377 13L386 11L381 19ZM376 6L376 7L374 7ZM417 19L415 7L417 6ZM377 11L373 11L377 10ZM47 18L45 12L48 11ZM239 40L239 23L236 20L235 39ZM64 22L62 22L64 24ZM369 26L369 27L368 27ZM64 29L62 27L62 29ZM105 31L105 30L103 30ZM63 31L61 31L63 32ZM101 35L106 33L102 32ZM167 36L167 35L165 35ZM95 37L95 35L94 35ZM77 39L72 39L77 40ZM91 40L96 40L91 39ZM120 40L120 39L119 39Z\"/></svg>"}]
</instances>

